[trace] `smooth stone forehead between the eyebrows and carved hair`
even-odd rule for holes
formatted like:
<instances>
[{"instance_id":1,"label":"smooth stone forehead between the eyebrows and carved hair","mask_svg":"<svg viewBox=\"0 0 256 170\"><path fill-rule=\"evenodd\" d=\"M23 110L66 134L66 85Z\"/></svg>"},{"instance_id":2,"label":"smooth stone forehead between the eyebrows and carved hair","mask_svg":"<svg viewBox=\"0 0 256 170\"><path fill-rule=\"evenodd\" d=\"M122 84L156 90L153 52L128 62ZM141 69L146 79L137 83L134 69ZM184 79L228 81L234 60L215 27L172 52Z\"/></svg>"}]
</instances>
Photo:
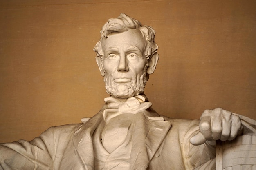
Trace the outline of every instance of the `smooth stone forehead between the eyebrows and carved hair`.
<instances>
[{"instance_id":1,"label":"smooth stone forehead between the eyebrows and carved hair","mask_svg":"<svg viewBox=\"0 0 256 170\"><path fill-rule=\"evenodd\" d=\"M110 33L107 38L102 39L103 51L110 49L137 49L143 52L146 44L146 38L138 29L129 29L121 33Z\"/></svg>"}]
</instances>

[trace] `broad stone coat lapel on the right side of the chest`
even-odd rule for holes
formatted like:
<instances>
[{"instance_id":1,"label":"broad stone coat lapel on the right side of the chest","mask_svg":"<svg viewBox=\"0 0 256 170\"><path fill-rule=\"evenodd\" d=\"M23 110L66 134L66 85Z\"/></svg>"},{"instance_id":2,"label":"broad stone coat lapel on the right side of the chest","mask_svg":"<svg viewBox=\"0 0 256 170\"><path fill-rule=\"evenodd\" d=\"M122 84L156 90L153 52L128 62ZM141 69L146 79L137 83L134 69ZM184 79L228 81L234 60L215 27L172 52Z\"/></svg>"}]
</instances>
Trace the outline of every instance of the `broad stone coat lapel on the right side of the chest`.
<instances>
[{"instance_id":1,"label":"broad stone coat lapel on the right side of the chest","mask_svg":"<svg viewBox=\"0 0 256 170\"><path fill-rule=\"evenodd\" d=\"M150 118L146 115L141 112L135 117L130 170L146 170L171 128L170 121L164 121L162 117Z\"/></svg>"}]
</instances>

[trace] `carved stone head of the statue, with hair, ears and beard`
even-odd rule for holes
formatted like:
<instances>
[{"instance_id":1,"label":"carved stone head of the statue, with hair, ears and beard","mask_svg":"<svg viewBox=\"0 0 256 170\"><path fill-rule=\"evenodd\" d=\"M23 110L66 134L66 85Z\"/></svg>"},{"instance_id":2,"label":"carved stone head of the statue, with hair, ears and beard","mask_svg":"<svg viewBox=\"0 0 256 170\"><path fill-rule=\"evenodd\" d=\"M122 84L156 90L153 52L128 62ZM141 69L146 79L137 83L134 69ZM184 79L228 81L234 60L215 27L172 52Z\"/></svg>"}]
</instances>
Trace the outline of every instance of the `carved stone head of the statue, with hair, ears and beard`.
<instances>
[{"instance_id":1,"label":"carved stone head of the statue, with hair, ears and beard","mask_svg":"<svg viewBox=\"0 0 256 170\"><path fill-rule=\"evenodd\" d=\"M121 13L102 27L94 47L107 93L128 98L144 92L159 59L155 30Z\"/></svg>"}]
</instances>

